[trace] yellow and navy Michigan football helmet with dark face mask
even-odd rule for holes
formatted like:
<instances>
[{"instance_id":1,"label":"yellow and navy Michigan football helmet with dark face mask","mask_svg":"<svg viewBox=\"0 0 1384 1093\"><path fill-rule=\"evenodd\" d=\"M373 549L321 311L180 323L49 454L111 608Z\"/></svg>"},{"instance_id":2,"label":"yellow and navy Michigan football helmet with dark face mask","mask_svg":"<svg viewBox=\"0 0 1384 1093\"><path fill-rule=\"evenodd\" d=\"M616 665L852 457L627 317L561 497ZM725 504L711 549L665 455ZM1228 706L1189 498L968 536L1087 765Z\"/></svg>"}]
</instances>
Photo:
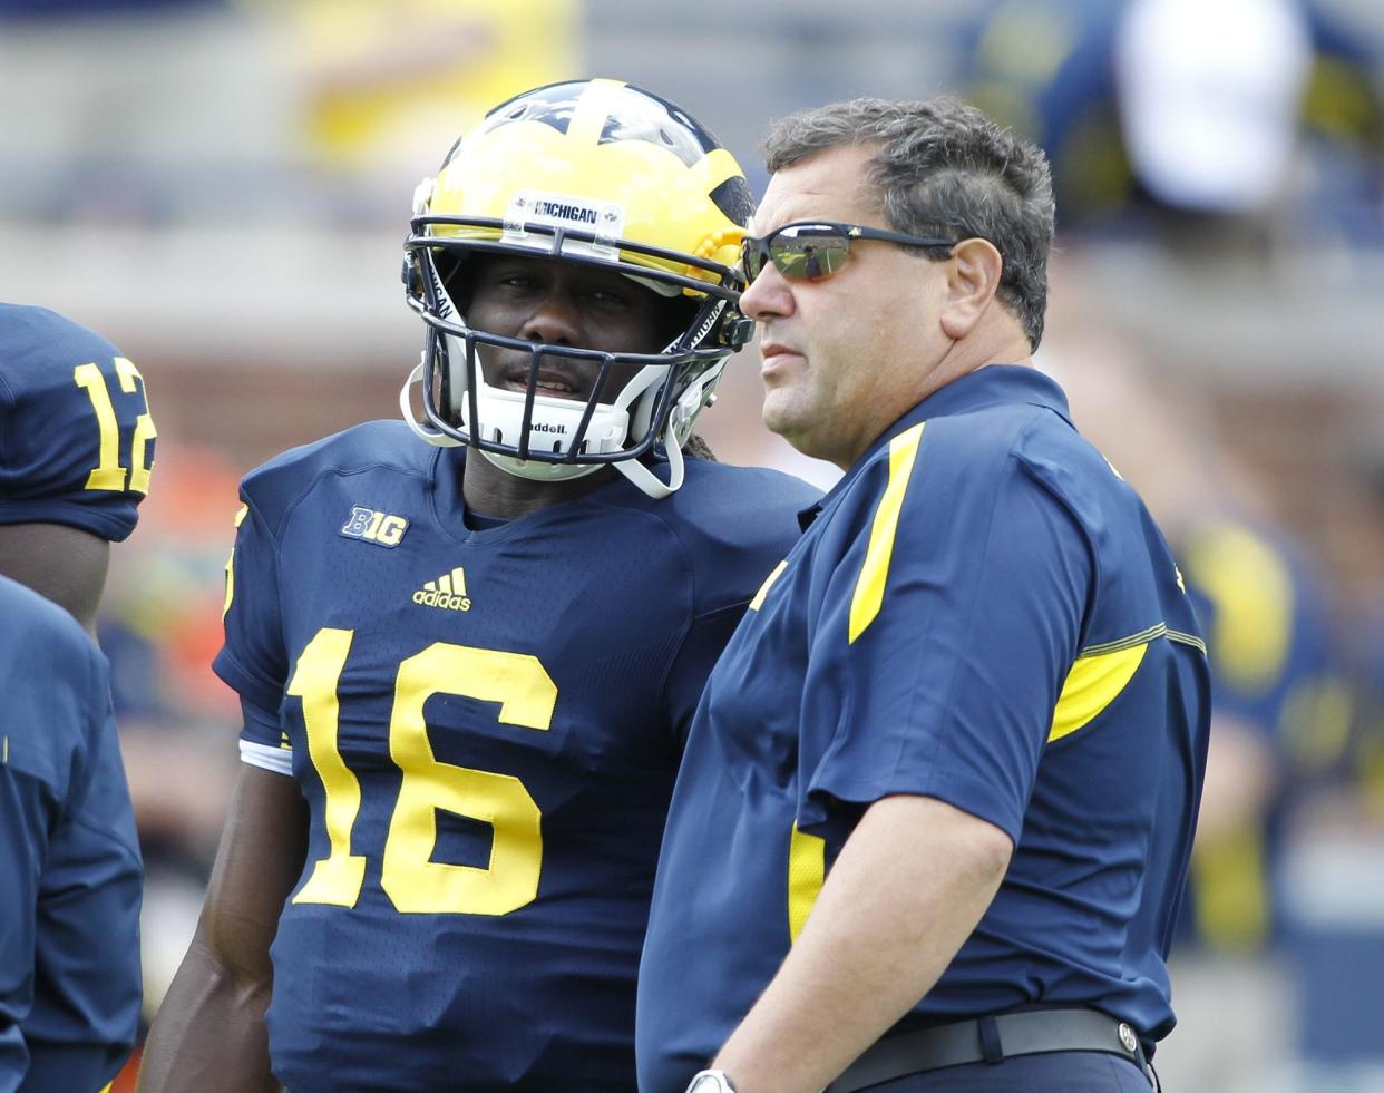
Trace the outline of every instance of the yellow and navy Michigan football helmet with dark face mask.
<instances>
[{"instance_id":1,"label":"yellow and navy Michigan football helmet with dark face mask","mask_svg":"<svg viewBox=\"0 0 1384 1093\"><path fill-rule=\"evenodd\" d=\"M430 428L412 422L407 408L406 419L432 443L464 443L523 477L567 479L613 463L645 493L670 493L681 481L678 448L710 403L727 357L753 329L736 307L739 244L752 212L735 158L649 91L581 80L495 107L414 199L404 282L428 331L408 386L422 382ZM613 267L685 303L685 327L662 353L642 354L475 329L448 282L477 253ZM486 385L477 343L529 351L527 392ZM538 360L549 354L602 369L590 400L538 390ZM602 401L602 387L617 386L606 383L617 365L639 371ZM670 484L638 462L657 447L673 465Z\"/></svg>"}]
</instances>

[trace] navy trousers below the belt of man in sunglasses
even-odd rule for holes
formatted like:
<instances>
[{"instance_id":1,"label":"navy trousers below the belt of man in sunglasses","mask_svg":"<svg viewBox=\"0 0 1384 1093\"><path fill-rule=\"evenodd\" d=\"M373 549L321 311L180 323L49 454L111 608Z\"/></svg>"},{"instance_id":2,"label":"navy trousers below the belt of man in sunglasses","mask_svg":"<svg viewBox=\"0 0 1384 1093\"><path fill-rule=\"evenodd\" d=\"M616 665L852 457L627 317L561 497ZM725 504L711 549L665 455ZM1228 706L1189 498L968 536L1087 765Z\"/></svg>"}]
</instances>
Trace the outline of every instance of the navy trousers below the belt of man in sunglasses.
<instances>
[{"instance_id":1,"label":"navy trousers below the belt of man in sunglasses","mask_svg":"<svg viewBox=\"0 0 1384 1093\"><path fill-rule=\"evenodd\" d=\"M1138 1065L1106 1051L1014 1056L911 1074L871 1086L869 1093L1150 1093Z\"/></svg>"}]
</instances>

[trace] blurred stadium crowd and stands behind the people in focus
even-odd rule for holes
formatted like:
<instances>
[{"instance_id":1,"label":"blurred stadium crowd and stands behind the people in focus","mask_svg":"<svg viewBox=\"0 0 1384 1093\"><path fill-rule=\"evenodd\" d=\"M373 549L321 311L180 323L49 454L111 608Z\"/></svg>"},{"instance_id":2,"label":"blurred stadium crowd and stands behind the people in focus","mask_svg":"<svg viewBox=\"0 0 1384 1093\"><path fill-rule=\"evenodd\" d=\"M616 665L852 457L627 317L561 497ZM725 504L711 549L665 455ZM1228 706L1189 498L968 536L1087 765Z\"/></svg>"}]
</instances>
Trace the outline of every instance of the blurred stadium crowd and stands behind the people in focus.
<instances>
[{"instance_id":1,"label":"blurred stadium crowd and stands behind the people in focus","mask_svg":"<svg viewBox=\"0 0 1384 1093\"><path fill-rule=\"evenodd\" d=\"M702 119L958 93L1052 159L1038 354L1174 542L1217 674L1172 1093L1384 1090L1384 6L1377 0L0 0L0 299L119 345L154 488L102 645L148 862L147 1010L191 935L238 708L237 480L397 412L417 181L572 76ZM901 321L907 321L901 317ZM829 486L758 421L703 432Z\"/></svg>"}]
</instances>

